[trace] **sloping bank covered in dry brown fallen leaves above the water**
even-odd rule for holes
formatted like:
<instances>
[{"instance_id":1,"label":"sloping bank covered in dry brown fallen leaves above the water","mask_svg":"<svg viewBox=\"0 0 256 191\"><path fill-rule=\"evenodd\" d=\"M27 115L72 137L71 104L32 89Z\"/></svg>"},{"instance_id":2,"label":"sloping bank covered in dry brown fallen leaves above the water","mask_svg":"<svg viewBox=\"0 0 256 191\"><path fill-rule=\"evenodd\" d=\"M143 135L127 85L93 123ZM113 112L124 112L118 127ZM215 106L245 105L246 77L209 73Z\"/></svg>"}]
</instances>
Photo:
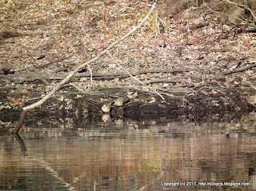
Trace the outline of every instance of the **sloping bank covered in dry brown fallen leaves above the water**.
<instances>
[{"instance_id":1,"label":"sloping bank covered in dry brown fallen leaves above the water","mask_svg":"<svg viewBox=\"0 0 256 191\"><path fill-rule=\"evenodd\" d=\"M0 3L0 119L6 121L11 112L14 122L22 107L138 25L151 5L130 0ZM30 117L57 110L102 113L104 103L127 95L121 109L113 108L118 116L200 118L254 111L255 30L223 25L215 13L202 15L202 6L179 11L157 6L146 25L110 50L113 58L105 54L90 63Z\"/></svg>"}]
</instances>

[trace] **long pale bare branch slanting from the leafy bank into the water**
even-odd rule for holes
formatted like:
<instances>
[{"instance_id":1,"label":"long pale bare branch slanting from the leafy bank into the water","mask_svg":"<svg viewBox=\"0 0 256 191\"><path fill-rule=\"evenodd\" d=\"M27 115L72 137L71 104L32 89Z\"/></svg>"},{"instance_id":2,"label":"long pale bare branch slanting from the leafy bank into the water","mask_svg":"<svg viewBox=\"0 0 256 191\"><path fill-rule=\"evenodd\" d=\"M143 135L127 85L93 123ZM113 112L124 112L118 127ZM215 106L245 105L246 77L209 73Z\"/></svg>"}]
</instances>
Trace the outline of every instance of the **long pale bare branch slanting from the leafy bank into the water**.
<instances>
[{"instance_id":1,"label":"long pale bare branch slanting from the leafy bank into the water","mask_svg":"<svg viewBox=\"0 0 256 191\"><path fill-rule=\"evenodd\" d=\"M150 14L153 12L154 8L155 8L156 2L154 2L153 6L151 7L150 11L148 12L148 14L146 15L145 18L143 18L142 22L140 22L138 24L138 26L135 26L132 30L130 30L130 32L128 32L127 34L125 34L124 36L122 36L122 38L119 38L118 40L116 40L115 42L113 42L109 47L106 48L106 50L103 50L101 54L98 54L97 57L90 59L90 61L87 61L85 63L83 63L82 65L78 66L77 68L75 68L72 72L70 72L70 74L68 74L66 76L66 78L64 78L62 80L62 82L59 82L57 86L54 87L53 90L50 91L50 93L48 93L45 97L42 97L41 100L35 102L34 104L31 105L27 105L26 107L23 108L22 113L25 112L27 110L30 109L34 109L35 107L38 107L39 105L42 105L46 100L48 100L53 94L55 94L55 92L57 92L64 84L66 84L66 82L70 81L70 78L72 78L74 76L74 74L78 73L78 71L82 70L83 68L85 68L86 66L88 66L90 63L97 61L99 58L102 58L102 56L104 54L106 54L110 49L112 49L114 46L116 46L119 42L122 42L124 39L128 38L131 34L133 34L136 30L138 30L145 22L147 19L149 19ZM18 122L17 127L12 131L12 133L18 133L18 130L22 127L22 124L24 122L25 116L24 117L20 117L20 120Z\"/></svg>"}]
</instances>

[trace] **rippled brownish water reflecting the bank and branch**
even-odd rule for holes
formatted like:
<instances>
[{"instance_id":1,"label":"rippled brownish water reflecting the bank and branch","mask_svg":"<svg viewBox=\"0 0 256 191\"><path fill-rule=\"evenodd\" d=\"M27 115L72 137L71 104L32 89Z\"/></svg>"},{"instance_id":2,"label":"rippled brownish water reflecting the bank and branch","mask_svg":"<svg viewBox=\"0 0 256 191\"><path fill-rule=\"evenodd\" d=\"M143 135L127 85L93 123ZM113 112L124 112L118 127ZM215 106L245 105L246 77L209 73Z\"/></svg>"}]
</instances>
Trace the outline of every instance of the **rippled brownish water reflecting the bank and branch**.
<instances>
[{"instance_id":1,"label":"rippled brownish water reflecting the bank and branch","mask_svg":"<svg viewBox=\"0 0 256 191\"><path fill-rule=\"evenodd\" d=\"M255 113L239 121L108 122L2 134L0 189L256 190Z\"/></svg>"}]
</instances>

